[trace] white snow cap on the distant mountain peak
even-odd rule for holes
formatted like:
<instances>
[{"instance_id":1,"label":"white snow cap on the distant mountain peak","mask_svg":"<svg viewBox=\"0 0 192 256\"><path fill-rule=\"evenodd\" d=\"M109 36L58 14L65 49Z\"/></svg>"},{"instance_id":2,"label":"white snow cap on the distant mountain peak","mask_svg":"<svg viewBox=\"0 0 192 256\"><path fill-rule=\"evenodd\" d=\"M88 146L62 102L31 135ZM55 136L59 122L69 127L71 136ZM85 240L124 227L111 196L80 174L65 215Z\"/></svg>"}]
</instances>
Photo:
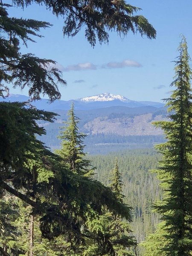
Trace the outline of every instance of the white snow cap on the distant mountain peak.
<instances>
[{"instance_id":1,"label":"white snow cap on the distant mountain peak","mask_svg":"<svg viewBox=\"0 0 192 256\"><path fill-rule=\"evenodd\" d=\"M102 93L94 96L84 97L84 98L81 98L80 101L81 102L97 102L97 101L104 102L104 101L112 101L115 99L119 99L122 102L130 101L129 99L121 95L113 95L112 93Z\"/></svg>"}]
</instances>

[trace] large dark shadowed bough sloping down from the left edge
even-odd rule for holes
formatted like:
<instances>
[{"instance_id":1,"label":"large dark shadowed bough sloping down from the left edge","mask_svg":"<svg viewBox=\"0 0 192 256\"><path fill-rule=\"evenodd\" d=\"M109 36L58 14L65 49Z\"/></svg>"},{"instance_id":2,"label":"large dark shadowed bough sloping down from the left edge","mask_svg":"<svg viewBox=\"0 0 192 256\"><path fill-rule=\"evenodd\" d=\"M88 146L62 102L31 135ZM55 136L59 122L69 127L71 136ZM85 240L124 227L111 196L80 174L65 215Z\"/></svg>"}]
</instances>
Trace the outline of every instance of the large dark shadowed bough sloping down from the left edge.
<instances>
[{"instance_id":1,"label":"large dark shadowed bough sloping down from the left edge","mask_svg":"<svg viewBox=\"0 0 192 256\"><path fill-rule=\"evenodd\" d=\"M33 207L45 238L64 234L78 247L84 240L82 225L91 211L102 213L102 206L130 219L129 207L111 189L71 172L35 138L45 133L36 120L51 121L53 113L27 109L24 103L1 102L0 109L1 191Z\"/></svg>"}]
</instances>

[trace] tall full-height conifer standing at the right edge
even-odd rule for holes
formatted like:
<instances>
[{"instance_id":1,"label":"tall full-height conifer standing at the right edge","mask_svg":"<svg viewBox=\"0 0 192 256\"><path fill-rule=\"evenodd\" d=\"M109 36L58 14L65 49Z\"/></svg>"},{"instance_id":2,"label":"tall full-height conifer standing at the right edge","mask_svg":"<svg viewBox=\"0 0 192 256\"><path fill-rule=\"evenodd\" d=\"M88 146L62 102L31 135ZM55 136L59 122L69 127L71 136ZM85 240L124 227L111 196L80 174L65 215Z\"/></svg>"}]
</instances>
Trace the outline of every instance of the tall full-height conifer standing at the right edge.
<instances>
[{"instance_id":1,"label":"tall full-height conifer standing at the right edge","mask_svg":"<svg viewBox=\"0 0 192 256\"><path fill-rule=\"evenodd\" d=\"M157 176L164 198L156 209L165 221L166 256L189 256L192 253L192 70L184 36L175 61L175 87L169 99L169 120L155 125L163 129L167 142L157 145L163 154Z\"/></svg>"}]
</instances>

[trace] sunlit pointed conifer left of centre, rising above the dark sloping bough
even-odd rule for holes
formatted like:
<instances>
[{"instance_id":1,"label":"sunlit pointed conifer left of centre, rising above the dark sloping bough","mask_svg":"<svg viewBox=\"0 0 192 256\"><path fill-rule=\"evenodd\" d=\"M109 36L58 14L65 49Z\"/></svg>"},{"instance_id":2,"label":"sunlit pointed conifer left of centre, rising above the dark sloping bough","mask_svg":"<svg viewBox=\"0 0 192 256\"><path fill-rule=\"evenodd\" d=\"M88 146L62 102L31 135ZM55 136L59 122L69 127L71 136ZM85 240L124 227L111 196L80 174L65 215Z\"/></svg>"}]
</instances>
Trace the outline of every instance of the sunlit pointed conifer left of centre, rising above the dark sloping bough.
<instances>
[{"instance_id":1,"label":"sunlit pointed conifer left of centre, rising above the dark sloping bough","mask_svg":"<svg viewBox=\"0 0 192 256\"><path fill-rule=\"evenodd\" d=\"M74 113L74 103L68 112L68 122L64 122L65 126L60 127L61 132L58 138L61 140L61 149L56 150L64 163L69 165L72 172L90 177L94 174L94 168L91 168L89 160L84 159L84 138L86 134L80 133L78 124L79 117Z\"/></svg>"}]
</instances>

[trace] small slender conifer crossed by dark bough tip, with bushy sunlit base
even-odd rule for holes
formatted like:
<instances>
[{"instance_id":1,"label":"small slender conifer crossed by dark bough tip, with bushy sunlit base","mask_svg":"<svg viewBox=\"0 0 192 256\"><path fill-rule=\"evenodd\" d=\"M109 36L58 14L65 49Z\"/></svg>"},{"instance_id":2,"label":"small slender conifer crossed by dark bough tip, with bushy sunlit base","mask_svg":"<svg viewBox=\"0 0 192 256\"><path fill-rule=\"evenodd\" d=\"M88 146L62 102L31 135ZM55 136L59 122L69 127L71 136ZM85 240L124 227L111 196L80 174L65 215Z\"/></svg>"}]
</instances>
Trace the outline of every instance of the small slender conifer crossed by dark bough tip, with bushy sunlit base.
<instances>
[{"instance_id":1,"label":"small slender conifer crossed by dark bough tip, with bushy sunlit base","mask_svg":"<svg viewBox=\"0 0 192 256\"><path fill-rule=\"evenodd\" d=\"M120 175L116 159L111 172L110 187L116 194L116 198L118 198L120 202L123 202L124 196L122 195L122 180ZM128 210L129 214L130 210L131 207L129 207ZM131 221L131 215L128 221ZM89 252L93 253L94 251L94 253L90 255L135 255L134 247L137 246L137 242L134 236L130 235L130 224L122 220L121 216L116 211L111 212L106 209L106 207L103 207L102 215L99 216L98 220L93 220L90 226L92 228L92 234L89 233L89 236L92 236L95 241L94 243L92 242L88 248Z\"/></svg>"}]
</instances>

